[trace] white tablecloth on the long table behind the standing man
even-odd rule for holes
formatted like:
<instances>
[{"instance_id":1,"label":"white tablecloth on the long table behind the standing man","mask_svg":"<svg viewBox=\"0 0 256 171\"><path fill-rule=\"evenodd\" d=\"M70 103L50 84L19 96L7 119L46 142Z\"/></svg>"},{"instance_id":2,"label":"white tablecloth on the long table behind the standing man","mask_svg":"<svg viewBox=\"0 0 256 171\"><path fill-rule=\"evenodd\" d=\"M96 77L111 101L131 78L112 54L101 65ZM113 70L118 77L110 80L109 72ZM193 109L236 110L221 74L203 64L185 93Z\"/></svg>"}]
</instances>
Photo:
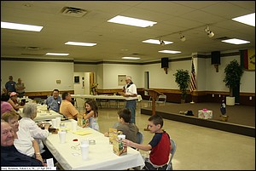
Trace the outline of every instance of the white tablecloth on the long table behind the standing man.
<instances>
[{"instance_id":1,"label":"white tablecloth on the long table behind the standing man","mask_svg":"<svg viewBox=\"0 0 256 171\"><path fill-rule=\"evenodd\" d=\"M91 95L91 94L71 94L73 98L83 98L83 99L103 99L103 100L125 100L125 97L122 95L108 95L108 94L101 94L101 95ZM143 100L140 94L137 95L137 100Z\"/></svg>"}]
</instances>

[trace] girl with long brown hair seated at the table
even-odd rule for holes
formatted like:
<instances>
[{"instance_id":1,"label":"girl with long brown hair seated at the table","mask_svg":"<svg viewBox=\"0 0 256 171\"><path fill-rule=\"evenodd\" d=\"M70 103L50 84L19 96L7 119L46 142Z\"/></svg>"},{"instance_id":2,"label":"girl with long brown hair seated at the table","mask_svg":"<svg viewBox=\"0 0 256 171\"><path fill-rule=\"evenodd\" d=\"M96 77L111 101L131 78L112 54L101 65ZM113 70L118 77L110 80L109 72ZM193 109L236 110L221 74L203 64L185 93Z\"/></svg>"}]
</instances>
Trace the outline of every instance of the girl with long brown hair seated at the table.
<instances>
[{"instance_id":1,"label":"girl with long brown hair seated at the table","mask_svg":"<svg viewBox=\"0 0 256 171\"><path fill-rule=\"evenodd\" d=\"M98 106L96 104L96 100L87 100L84 103L85 105L85 114L84 119L89 120L89 127L95 129L96 131L100 131L99 123L98 123Z\"/></svg>"}]
</instances>

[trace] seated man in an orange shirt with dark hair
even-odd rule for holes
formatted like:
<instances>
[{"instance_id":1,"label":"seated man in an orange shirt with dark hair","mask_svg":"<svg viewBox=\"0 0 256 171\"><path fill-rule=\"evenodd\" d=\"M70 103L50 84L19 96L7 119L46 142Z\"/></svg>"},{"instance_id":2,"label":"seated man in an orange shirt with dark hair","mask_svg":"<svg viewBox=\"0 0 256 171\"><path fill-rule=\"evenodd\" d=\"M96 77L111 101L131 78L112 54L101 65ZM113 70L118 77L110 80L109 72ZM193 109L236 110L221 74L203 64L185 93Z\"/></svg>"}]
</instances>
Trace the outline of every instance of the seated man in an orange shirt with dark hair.
<instances>
[{"instance_id":1,"label":"seated man in an orange shirt with dark hair","mask_svg":"<svg viewBox=\"0 0 256 171\"><path fill-rule=\"evenodd\" d=\"M60 113L67 118L77 119L79 111L73 106L72 97L68 92L62 94Z\"/></svg>"}]
</instances>

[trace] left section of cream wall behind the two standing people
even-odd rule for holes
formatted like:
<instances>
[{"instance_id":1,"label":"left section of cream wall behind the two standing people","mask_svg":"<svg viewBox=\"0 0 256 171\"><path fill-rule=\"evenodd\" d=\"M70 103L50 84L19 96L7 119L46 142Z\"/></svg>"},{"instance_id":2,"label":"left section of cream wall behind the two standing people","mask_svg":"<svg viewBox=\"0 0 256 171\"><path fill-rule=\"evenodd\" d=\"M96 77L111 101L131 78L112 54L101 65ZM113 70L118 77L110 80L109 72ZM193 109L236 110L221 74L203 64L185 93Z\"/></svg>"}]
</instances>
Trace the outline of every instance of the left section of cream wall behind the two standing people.
<instances>
[{"instance_id":1,"label":"left section of cream wall behind the two standing people","mask_svg":"<svg viewBox=\"0 0 256 171\"><path fill-rule=\"evenodd\" d=\"M26 84L26 92L73 90L73 62L13 61L1 60L2 83L12 75ZM57 84L56 80L61 80Z\"/></svg>"}]
</instances>

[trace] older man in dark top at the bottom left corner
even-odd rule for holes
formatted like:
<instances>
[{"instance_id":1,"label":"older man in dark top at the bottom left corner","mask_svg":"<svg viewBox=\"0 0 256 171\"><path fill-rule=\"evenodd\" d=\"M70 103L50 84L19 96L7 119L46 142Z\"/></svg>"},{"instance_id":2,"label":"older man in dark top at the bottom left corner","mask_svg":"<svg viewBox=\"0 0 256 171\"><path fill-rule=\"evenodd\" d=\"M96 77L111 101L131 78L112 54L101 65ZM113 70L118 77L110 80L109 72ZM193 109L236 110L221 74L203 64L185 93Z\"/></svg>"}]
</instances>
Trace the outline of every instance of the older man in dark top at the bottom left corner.
<instances>
[{"instance_id":1,"label":"older man in dark top at the bottom left corner","mask_svg":"<svg viewBox=\"0 0 256 171\"><path fill-rule=\"evenodd\" d=\"M1 119L1 167L43 167L36 158L28 157L17 151L14 145L13 128Z\"/></svg>"}]
</instances>

